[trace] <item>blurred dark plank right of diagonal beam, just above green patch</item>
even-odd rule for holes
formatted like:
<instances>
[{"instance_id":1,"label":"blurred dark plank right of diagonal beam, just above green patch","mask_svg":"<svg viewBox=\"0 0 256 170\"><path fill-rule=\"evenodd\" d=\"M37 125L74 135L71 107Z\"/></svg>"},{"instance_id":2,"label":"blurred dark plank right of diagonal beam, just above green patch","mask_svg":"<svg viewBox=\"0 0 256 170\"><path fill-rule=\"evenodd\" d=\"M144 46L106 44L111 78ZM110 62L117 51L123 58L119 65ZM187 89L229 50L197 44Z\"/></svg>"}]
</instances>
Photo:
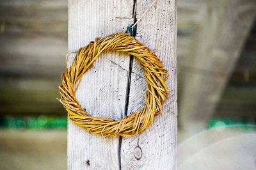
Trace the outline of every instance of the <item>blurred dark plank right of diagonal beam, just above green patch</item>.
<instances>
[{"instance_id":1,"label":"blurred dark plank right of diagonal beam, just above green patch","mask_svg":"<svg viewBox=\"0 0 256 170\"><path fill-rule=\"evenodd\" d=\"M256 123L256 83L233 82L228 84L216 108L214 118L233 118Z\"/></svg>"}]
</instances>

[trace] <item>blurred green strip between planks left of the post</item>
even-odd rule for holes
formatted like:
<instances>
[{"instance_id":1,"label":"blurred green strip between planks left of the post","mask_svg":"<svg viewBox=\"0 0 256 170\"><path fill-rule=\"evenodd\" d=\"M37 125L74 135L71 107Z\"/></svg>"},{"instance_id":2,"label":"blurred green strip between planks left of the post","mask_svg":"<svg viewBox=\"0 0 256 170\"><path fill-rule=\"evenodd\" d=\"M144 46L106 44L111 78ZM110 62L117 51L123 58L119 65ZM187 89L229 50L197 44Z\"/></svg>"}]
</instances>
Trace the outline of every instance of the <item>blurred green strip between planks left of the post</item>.
<instances>
[{"instance_id":1,"label":"blurred green strip between planks left of the post","mask_svg":"<svg viewBox=\"0 0 256 170\"><path fill-rule=\"evenodd\" d=\"M1 116L2 128L67 128L67 116Z\"/></svg>"}]
</instances>

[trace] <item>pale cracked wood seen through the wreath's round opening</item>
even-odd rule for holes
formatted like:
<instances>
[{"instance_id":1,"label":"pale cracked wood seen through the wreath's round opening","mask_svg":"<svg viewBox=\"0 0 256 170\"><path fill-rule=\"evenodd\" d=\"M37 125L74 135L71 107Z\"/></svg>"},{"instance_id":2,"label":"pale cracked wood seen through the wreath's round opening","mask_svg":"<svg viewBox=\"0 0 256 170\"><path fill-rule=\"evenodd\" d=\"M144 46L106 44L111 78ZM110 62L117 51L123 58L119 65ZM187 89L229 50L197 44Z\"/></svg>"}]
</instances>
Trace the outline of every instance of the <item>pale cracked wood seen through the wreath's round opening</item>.
<instances>
[{"instance_id":1,"label":"pale cracked wood seen through the wreath's round opening","mask_svg":"<svg viewBox=\"0 0 256 170\"><path fill-rule=\"evenodd\" d=\"M125 105L127 105L127 90L131 90L127 89L129 64L130 56L125 52L111 51L100 54L92 68L84 73L77 88L76 98L81 107L90 112L92 116L106 116L115 120L124 116ZM138 66L140 66L139 63ZM131 77L132 90L136 91L136 98L140 98L140 100L138 101L136 98L131 100L130 98L129 103L140 106L140 108L127 108L128 115L145 106L146 86L143 86L142 91L138 91L141 89L141 81L146 84L144 75L142 77L132 73ZM75 88L78 82L76 82Z\"/></svg>"}]
</instances>

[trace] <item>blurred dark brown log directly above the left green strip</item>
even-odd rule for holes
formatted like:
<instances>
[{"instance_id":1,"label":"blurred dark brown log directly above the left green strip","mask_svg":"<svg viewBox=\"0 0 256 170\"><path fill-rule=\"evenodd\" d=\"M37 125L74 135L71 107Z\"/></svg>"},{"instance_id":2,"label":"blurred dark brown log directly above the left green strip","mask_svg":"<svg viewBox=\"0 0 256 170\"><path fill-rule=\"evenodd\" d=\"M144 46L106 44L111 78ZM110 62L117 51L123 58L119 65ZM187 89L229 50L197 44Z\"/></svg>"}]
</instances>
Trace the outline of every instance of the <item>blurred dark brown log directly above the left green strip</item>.
<instances>
[{"instance_id":1,"label":"blurred dark brown log directly above the left green strip","mask_svg":"<svg viewBox=\"0 0 256 170\"><path fill-rule=\"evenodd\" d=\"M1 114L65 114L56 100L60 79L0 78Z\"/></svg>"}]
</instances>

